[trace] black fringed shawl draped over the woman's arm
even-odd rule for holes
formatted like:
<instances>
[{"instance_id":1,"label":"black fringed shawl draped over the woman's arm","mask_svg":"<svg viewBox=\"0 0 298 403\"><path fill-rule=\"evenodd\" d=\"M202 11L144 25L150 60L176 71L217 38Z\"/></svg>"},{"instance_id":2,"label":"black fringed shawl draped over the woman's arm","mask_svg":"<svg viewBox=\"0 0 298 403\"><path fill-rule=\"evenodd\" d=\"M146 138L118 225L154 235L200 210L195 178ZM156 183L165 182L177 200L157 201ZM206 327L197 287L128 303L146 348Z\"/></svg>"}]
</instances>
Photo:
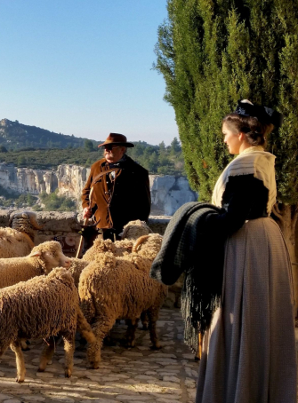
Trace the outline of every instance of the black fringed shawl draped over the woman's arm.
<instances>
[{"instance_id":1,"label":"black fringed shawl draped over the woman's arm","mask_svg":"<svg viewBox=\"0 0 298 403\"><path fill-rule=\"evenodd\" d=\"M181 206L166 227L162 247L150 270L152 279L166 285L172 285L185 273L181 295L184 340L193 350L197 350L198 332L204 334L209 328L220 304L223 240L216 233L205 232L205 218L220 211L209 203Z\"/></svg>"}]
</instances>

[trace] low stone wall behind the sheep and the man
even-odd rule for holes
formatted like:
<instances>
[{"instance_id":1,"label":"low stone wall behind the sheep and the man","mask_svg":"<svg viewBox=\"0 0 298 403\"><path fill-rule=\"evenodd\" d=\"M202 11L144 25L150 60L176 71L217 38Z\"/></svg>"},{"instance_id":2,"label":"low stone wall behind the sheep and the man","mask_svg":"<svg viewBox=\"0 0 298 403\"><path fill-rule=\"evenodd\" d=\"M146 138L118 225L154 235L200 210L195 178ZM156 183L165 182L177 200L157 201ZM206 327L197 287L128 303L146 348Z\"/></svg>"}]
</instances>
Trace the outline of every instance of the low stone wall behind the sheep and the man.
<instances>
[{"instance_id":1,"label":"low stone wall behind the sheep and the man","mask_svg":"<svg viewBox=\"0 0 298 403\"><path fill-rule=\"evenodd\" d=\"M15 210L0 209L0 226L8 226L10 217ZM41 211L36 212L39 225L43 225L41 231L37 231L35 244L38 245L44 241L59 241L63 252L68 257L75 257L79 241L81 239L78 231L83 224L83 217L77 212L57 212ZM154 233L165 233L169 217L149 217L149 227ZM165 300L165 307L180 307L180 296L182 287L182 278L169 288L168 296Z\"/></svg>"}]
</instances>

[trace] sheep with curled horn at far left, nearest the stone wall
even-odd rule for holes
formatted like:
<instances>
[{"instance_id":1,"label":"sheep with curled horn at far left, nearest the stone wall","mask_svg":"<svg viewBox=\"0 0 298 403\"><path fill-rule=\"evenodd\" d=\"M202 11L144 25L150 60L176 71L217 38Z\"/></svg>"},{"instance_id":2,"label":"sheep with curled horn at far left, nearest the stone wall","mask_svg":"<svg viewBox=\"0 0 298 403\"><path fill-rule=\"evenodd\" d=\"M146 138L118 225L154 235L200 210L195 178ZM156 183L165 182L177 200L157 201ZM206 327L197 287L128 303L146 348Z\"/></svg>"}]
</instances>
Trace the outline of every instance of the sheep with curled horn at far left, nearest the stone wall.
<instances>
[{"instance_id":1,"label":"sheep with curled horn at far left, nearest the stone wall","mask_svg":"<svg viewBox=\"0 0 298 403\"><path fill-rule=\"evenodd\" d=\"M41 229L36 214L23 211L12 215L10 227L0 228L0 258L27 256L34 248L35 231Z\"/></svg>"}]
</instances>

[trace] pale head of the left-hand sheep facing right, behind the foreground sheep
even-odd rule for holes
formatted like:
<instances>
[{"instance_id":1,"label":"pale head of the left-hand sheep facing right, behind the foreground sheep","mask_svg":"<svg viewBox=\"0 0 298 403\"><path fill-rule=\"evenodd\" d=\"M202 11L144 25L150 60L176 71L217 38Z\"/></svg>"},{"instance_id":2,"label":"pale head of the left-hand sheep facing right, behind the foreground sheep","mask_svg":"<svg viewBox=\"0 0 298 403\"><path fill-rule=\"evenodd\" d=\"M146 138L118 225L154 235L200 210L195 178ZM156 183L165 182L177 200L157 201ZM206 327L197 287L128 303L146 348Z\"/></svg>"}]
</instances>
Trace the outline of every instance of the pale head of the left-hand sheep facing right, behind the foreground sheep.
<instances>
[{"instance_id":1,"label":"pale head of the left-hand sheep facing right, behind the foreground sheep","mask_svg":"<svg viewBox=\"0 0 298 403\"><path fill-rule=\"evenodd\" d=\"M29 257L38 259L44 273L50 273L54 267L69 267L70 259L66 257L57 241L46 241L31 250Z\"/></svg>"}]
</instances>

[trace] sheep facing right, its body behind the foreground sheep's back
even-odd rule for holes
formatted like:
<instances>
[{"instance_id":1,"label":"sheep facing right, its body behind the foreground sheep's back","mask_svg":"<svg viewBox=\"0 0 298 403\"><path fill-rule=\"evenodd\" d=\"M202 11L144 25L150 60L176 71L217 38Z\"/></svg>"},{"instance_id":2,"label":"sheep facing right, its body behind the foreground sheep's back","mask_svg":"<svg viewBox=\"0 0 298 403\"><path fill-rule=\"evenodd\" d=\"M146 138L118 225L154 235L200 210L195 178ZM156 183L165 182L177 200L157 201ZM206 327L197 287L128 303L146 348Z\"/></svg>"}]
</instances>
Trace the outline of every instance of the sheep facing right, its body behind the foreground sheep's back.
<instances>
[{"instance_id":1,"label":"sheep facing right, its body behind the foreground sheep's back","mask_svg":"<svg viewBox=\"0 0 298 403\"><path fill-rule=\"evenodd\" d=\"M0 259L0 288L9 287L20 281L50 273L54 267L70 265L57 241L40 243L27 257Z\"/></svg>"}]
</instances>

